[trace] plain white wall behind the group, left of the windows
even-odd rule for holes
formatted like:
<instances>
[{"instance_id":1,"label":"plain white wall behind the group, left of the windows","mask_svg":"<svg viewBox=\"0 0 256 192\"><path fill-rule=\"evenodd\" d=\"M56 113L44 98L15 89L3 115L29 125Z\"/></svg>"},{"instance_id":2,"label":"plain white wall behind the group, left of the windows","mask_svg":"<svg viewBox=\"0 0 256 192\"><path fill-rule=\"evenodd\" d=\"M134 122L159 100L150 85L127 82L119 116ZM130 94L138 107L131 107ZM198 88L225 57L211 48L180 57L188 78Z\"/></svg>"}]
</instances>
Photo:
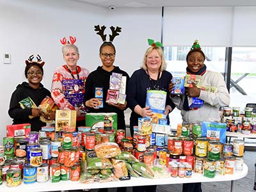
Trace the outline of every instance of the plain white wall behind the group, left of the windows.
<instances>
[{"instance_id":1,"label":"plain white wall behind the group, left of the windows","mask_svg":"<svg viewBox=\"0 0 256 192\"><path fill-rule=\"evenodd\" d=\"M115 65L131 75L141 65L148 47L147 38L160 40L161 9L112 11L66 0L0 0L0 145L6 135L6 125L12 124L8 115L12 92L17 84L26 81L24 61L31 54L42 56L45 61L42 83L50 90L55 68L63 65L60 38L72 35L77 38L79 65L95 70L101 65L99 46L102 44L93 28L97 24L122 27L122 33L114 41ZM10 65L2 62L4 53L11 54Z\"/></svg>"}]
</instances>

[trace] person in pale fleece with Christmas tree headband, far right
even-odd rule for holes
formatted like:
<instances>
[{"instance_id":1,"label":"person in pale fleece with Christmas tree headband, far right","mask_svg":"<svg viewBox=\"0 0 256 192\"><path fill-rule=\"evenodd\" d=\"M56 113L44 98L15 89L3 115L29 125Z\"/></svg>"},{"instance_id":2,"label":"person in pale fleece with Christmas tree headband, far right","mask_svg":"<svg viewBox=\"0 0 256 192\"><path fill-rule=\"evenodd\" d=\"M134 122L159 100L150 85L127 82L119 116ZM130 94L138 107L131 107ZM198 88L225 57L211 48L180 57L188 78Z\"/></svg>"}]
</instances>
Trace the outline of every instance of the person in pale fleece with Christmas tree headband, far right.
<instances>
[{"instance_id":1,"label":"person in pale fleece with Christmas tree headband, far right","mask_svg":"<svg viewBox=\"0 0 256 192\"><path fill-rule=\"evenodd\" d=\"M175 106L180 109L182 123L193 124L202 122L220 122L220 106L228 106L230 96L227 86L218 72L207 70L205 54L196 40L188 52L186 61L188 67L187 74L198 75L200 77L200 88L195 83L186 88L185 93L181 95L170 95ZM169 90L172 91L175 84L170 83ZM198 108L191 107L189 100L197 97L202 100L202 106ZM182 192L201 192L201 183L183 184Z\"/></svg>"}]
</instances>

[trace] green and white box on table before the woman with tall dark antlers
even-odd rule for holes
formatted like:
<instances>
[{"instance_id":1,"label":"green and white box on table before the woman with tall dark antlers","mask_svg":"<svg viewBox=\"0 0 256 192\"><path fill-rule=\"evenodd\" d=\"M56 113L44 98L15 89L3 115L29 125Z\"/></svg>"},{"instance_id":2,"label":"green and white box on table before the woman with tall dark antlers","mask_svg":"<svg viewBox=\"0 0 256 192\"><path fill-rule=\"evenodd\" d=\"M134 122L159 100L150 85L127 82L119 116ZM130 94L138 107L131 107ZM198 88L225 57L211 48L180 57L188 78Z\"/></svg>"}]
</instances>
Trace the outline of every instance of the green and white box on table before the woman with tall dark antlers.
<instances>
[{"instance_id":1,"label":"green and white box on table before the woman with tall dark antlers","mask_svg":"<svg viewBox=\"0 0 256 192\"><path fill-rule=\"evenodd\" d=\"M95 128L102 128L104 127L104 118L108 115L112 118L112 127L113 129L121 129L122 127L117 127L117 114L116 113L86 113L85 116L85 126L91 127L92 129Z\"/></svg>"}]
</instances>

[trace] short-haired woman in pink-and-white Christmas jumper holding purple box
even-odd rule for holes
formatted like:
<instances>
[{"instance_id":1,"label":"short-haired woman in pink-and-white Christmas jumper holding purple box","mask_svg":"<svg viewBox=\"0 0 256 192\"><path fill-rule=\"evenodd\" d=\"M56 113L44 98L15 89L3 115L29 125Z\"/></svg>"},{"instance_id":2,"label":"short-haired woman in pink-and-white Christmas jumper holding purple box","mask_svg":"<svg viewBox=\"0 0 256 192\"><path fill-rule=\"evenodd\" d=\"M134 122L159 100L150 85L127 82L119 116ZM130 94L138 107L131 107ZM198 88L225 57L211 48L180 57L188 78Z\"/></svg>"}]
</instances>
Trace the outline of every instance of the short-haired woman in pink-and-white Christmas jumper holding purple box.
<instances>
[{"instance_id":1,"label":"short-haired woman in pink-and-white Christmas jumper holding purple box","mask_svg":"<svg viewBox=\"0 0 256 192\"><path fill-rule=\"evenodd\" d=\"M79 50L75 44L76 37L70 36L70 42L64 37L61 40L65 65L58 67L52 78L52 99L60 109L76 110L76 126L85 125L83 112L84 84L89 71L79 67Z\"/></svg>"}]
</instances>

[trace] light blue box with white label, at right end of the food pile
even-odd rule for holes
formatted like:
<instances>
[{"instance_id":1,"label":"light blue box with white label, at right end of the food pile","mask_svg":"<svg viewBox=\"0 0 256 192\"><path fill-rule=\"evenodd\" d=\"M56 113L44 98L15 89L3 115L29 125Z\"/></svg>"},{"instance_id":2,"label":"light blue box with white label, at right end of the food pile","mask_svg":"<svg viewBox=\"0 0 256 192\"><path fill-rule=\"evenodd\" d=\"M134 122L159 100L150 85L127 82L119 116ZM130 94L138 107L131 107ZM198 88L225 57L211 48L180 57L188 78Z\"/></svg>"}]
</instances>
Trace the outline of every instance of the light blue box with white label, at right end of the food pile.
<instances>
[{"instance_id":1,"label":"light blue box with white label, at right end of the food pile","mask_svg":"<svg viewBox=\"0 0 256 192\"><path fill-rule=\"evenodd\" d=\"M216 122L202 122L202 136L210 140L226 143L226 124Z\"/></svg>"}]
</instances>

